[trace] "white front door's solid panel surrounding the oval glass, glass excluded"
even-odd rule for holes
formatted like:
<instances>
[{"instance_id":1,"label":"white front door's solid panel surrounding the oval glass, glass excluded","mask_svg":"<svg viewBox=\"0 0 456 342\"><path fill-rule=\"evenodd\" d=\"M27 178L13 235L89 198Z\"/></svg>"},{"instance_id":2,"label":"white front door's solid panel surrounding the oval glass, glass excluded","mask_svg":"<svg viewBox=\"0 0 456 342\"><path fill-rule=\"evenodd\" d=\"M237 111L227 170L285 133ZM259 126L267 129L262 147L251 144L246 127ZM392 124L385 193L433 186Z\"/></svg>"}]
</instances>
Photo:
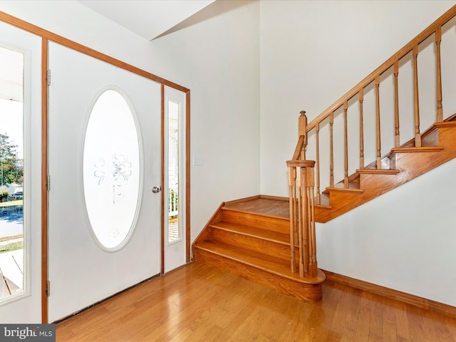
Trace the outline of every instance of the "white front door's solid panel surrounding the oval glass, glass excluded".
<instances>
[{"instance_id":1,"label":"white front door's solid panel surrounding the oval glass, glass excluded","mask_svg":"<svg viewBox=\"0 0 456 342\"><path fill-rule=\"evenodd\" d=\"M56 321L160 273L160 84L49 43L48 321ZM83 189L90 110L104 90L133 108L140 143L140 195L133 234L122 248L100 247ZM102 130L100 130L102 134Z\"/></svg>"}]
</instances>

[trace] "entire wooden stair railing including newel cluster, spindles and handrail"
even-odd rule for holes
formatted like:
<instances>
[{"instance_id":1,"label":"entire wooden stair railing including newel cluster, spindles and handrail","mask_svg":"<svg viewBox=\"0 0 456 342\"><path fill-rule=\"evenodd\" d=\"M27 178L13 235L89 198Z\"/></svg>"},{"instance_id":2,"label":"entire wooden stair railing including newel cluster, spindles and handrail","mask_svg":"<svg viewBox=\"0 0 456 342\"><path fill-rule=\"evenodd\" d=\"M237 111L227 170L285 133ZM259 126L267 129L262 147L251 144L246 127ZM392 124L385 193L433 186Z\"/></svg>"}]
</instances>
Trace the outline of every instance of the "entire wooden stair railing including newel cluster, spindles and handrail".
<instances>
[{"instance_id":1,"label":"entire wooden stair railing including newel cluster, spindles and handrail","mask_svg":"<svg viewBox=\"0 0 456 342\"><path fill-rule=\"evenodd\" d=\"M287 162L290 198L291 271L296 272L296 266L299 265L301 276L316 275L314 205L328 204L325 202L327 199L323 200L324 192L321 192L321 188L349 189L356 187L356 185L351 184L353 180L356 180L356 172L350 175L356 169L383 170L389 169L390 166L393 167L393 164L390 165L388 156L383 155L383 151L389 153L391 148L400 147L401 142L403 145L406 142L409 147L421 148L423 135L420 125L423 125L423 122L420 123L420 120L423 119L423 115L420 114L420 105L423 106L423 98L425 98L425 105L423 106L425 112L430 111L428 109L430 106L427 105L429 99L435 100L435 113L433 113L432 118L424 118L425 123L440 123L444 120L442 75L448 75L449 82L455 84L456 69L454 67L455 56L452 56L452 58L447 59L449 61L447 68L453 67L453 69L442 72L442 33L454 34L452 31L455 30L449 30L448 26L451 28L455 26L455 22L451 21L455 16L456 5L452 6L450 10L388 58L363 81L324 110L311 123L307 123L305 112L301 112L299 141L292 160ZM451 22L449 23L449 21ZM445 24L448 25L445 26ZM432 41L430 41L431 39ZM450 37L449 40L451 41L451 39L454 40ZM435 46L434 56L425 58L425 61L433 59L434 66L420 68L418 66L418 53L423 52L426 57L426 53L429 51L426 48L431 45ZM432 69L432 76L423 72ZM404 80L399 78L400 71L406 76ZM418 82L419 71L420 75L424 74L420 82ZM410 82L407 82L407 76L410 76ZM423 81L425 82L423 83ZM430 83L435 84L432 87L432 93L425 89L427 93L424 94L423 98L420 98L420 95L423 94L420 93L419 86L425 85L425 88L429 88ZM388 93L390 98L386 101L386 105L383 99L386 95L380 98L380 85L386 89L385 94ZM406 88L406 86L410 87ZM412 112L410 128L404 124L407 123L406 115L400 115L400 113L407 111L404 110L407 105L404 106L403 103L408 103ZM390 110L380 113L380 104L390 108ZM348 112L355 112L357 115L349 116ZM372 115L366 115L368 113L372 113ZM388 115L391 118L391 132L384 133L380 128L385 127ZM366 121L371 122L371 124L366 123ZM353 128L351 125L353 122L357 127ZM400 127L400 124L405 126L405 129ZM350 137L348 135L349 125L351 125ZM371 130L366 132L367 128L371 128ZM372 134L372 132L374 133ZM365 140L365 135L368 136L368 140ZM355 136L356 138L353 138ZM322 137L325 139L323 144L321 143ZM382 139L386 140L386 143ZM353 140L355 140L354 143ZM365 145L369 146L365 148ZM306 160L306 154L311 160ZM321 162L322 156L327 157L327 159L323 159L323 162ZM366 165L365 160L373 160L373 162ZM325 167L324 172L322 172L322 165ZM322 174L325 176L324 184L321 182ZM335 185L335 178L342 179L342 181ZM296 260L295 250L298 246L299 258Z\"/></svg>"}]
</instances>

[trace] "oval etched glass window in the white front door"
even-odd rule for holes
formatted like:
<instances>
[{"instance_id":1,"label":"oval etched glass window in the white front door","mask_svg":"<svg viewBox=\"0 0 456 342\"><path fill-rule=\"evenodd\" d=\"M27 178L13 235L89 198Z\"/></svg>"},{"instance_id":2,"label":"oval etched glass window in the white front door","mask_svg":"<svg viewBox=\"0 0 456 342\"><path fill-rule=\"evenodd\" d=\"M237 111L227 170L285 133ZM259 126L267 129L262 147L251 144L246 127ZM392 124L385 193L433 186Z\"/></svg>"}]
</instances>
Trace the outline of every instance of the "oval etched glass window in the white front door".
<instances>
[{"instance_id":1,"label":"oval etched glass window in the white front door","mask_svg":"<svg viewBox=\"0 0 456 342\"><path fill-rule=\"evenodd\" d=\"M140 198L140 145L133 110L121 90L98 96L88 119L83 187L90 226L100 247L116 251L136 223Z\"/></svg>"}]
</instances>

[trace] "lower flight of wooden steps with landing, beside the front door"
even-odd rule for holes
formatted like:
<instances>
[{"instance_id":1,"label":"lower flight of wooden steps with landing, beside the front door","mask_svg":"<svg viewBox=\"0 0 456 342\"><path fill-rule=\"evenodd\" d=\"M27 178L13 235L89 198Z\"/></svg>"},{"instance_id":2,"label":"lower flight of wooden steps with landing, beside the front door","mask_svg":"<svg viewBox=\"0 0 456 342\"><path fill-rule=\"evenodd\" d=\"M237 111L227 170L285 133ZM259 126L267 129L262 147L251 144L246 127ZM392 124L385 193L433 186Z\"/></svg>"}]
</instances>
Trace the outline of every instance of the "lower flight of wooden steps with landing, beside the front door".
<instances>
[{"instance_id":1,"label":"lower flight of wooden steps with landing, beside the front door","mask_svg":"<svg viewBox=\"0 0 456 342\"><path fill-rule=\"evenodd\" d=\"M304 301L321 299L322 271L314 278L291 272L287 198L256 196L223 203L192 249L194 261Z\"/></svg>"}]
</instances>

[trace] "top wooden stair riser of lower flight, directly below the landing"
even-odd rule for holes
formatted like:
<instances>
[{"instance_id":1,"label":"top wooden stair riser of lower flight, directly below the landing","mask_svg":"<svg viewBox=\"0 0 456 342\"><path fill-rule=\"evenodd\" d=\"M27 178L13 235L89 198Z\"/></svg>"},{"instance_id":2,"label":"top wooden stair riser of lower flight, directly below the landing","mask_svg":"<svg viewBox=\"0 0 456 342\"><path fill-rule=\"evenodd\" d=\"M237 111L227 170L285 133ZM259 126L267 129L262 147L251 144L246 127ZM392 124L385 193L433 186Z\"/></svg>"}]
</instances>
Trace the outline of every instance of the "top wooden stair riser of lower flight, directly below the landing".
<instances>
[{"instance_id":1,"label":"top wooden stair riser of lower flight, directly below the landing","mask_svg":"<svg viewBox=\"0 0 456 342\"><path fill-rule=\"evenodd\" d=\"M244 224L247 226L269 229L274 232L289 234L290 223L288 219L278 217L263 217L257 214L236 212L232 210L222 210L223 220L235 224Z\"/></svg>"}]
</instances>

